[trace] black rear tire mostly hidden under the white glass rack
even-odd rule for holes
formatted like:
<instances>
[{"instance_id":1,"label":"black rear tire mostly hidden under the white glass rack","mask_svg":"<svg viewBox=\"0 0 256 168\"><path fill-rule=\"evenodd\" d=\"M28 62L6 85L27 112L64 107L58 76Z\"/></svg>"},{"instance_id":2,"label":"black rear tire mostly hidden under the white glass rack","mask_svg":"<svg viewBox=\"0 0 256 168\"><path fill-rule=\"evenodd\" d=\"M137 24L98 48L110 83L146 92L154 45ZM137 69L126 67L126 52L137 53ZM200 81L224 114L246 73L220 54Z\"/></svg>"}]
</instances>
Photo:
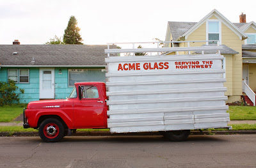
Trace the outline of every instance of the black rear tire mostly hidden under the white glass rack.
<instances>
[{"instance_id":1,"label":"black rear tire mostly hidden under the white glass rack","mask_svg":"<svg viewBox=\"0 0 256 168\"><path fill-rule=\"evenodd\" d=\"M188 139L190 134L190 130L174 130L174 131L166 131L162 132L164 138L169 141L185 141Z\"/></svg>"}]
</instances>

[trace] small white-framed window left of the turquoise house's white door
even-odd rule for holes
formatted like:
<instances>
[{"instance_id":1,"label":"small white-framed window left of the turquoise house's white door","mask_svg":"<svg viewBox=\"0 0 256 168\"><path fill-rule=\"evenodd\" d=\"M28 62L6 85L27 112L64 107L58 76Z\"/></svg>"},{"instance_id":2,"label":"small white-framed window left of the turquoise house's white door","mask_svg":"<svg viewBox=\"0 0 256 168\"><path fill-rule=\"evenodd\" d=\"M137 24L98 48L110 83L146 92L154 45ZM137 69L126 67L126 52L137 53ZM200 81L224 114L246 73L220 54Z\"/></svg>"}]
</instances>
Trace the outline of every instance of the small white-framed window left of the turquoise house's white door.
<instances>
[{"instance_id":1,"label":"small white-framed window left of the turquoise house's white door","mask_svg":"<svg viewBox=\"0 0 256 168\"><path fill-rule=\"evenodd\" d=\"M19 84L29 83L28 69L8 69L8 79Z\"/></svg>"}]
</instances>

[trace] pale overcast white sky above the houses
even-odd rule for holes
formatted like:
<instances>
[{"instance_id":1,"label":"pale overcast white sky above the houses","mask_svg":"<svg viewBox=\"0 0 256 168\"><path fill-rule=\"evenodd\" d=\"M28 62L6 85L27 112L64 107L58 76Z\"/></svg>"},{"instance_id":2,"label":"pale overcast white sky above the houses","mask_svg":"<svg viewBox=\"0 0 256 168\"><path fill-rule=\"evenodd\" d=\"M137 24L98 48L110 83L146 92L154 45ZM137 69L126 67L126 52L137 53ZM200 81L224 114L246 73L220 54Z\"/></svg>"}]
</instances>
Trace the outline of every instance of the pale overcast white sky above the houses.
<instances>
[{"instance_id":1,"label":"pale overcast white sky above the houses","mask_svg":"<svg viewBox=\"0 0 256 168\"><path fill-rule=\"evenodd\" d=\"M164 40L168 21L198 22L212 10L231 22L256 22L255 0L0 0L0 44L44 44L63 37L74 15L84 44Z\"/></svg>"}]
</instances>

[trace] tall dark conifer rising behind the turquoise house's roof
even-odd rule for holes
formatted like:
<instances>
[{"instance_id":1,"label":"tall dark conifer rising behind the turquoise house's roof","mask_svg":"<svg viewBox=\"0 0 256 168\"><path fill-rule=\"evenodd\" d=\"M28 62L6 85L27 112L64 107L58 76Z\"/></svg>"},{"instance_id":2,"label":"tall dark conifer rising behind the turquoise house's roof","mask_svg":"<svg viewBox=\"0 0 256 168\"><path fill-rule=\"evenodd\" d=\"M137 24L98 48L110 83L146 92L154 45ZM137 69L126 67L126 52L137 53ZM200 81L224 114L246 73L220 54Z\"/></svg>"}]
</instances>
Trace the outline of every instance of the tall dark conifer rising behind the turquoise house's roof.
<instances>
[{"instance_id":1,"label":"tall dark conifer rising behind the turquoise house's roof","mask_svg":"<svg viewBox=\"0 0 256 168\"><path fill-rule=\"evenodd\" d=\"M63 42L65 44L83 44L83 39L79 34L80 28L77 27L76 17L71 16L68 21L68 26L65 29L65 33L63 35Z\"/></svg>"}]
</instances>

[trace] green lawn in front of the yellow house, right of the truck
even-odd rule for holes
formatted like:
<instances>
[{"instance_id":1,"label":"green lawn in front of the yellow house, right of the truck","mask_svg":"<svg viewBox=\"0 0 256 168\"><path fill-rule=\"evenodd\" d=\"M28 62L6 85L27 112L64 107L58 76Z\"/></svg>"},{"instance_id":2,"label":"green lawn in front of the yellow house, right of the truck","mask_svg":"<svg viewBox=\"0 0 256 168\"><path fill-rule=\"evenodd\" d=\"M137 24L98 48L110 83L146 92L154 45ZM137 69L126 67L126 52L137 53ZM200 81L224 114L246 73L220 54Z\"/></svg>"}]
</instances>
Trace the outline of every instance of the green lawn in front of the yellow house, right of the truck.
<instances>
[{"instance_id":1,"label":"green lawn in front of the yellow house, right of the truck","mask_svg":"<svg viewBox=\"0 0 256 168\"><path fill-rule=\"evenodd\" d=\"M230 105L228 111L230 120L255 120L256 107Z\"/></svg>"}]
</instances>

